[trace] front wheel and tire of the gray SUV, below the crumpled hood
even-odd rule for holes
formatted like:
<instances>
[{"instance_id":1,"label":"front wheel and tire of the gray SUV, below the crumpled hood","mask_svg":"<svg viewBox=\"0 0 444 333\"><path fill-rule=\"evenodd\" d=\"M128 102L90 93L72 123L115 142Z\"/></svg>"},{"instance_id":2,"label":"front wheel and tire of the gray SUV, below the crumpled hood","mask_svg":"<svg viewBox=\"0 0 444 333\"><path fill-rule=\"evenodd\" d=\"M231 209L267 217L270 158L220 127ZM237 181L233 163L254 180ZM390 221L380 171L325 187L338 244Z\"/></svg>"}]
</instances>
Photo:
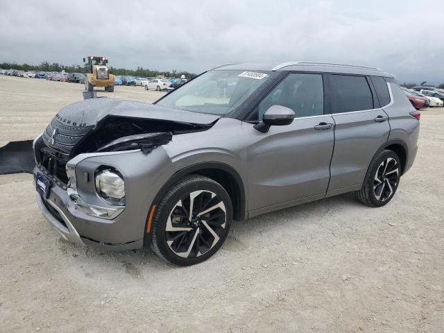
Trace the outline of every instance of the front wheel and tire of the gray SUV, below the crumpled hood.
<instances>
[{"instance_id":1,"label":"front wheel and tire of the gray SUV, below the crumpled hood","mask_svg":"<svg viewBox=\"0 0 444 333\"><path fill-rule=\"evenodd\" d=\"M155 208L151 248L173 264L198 264L221 248L231 221L227 191L210 178L189 176L173 185Z\"/></svg>"}]
</instances>

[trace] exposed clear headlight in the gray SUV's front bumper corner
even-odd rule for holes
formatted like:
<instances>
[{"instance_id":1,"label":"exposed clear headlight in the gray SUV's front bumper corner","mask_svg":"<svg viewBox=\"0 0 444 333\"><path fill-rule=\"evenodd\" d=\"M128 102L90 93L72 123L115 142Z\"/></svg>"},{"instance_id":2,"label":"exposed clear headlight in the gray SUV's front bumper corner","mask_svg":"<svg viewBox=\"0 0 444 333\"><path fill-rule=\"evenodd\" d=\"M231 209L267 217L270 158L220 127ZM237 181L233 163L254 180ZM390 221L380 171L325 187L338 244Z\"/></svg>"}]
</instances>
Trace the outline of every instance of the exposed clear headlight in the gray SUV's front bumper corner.
<instances>
[{"instance_id":1,"label":"exposed clear headlight in the gray SUV's front bumper corner","mask_svg":"<svg viewBox=\"0 0 444 333\"><path fill-rule=\"evenodd\" d=\"M105 169L96 173L96 191L110 203L125 204L125 183L117 171Z\"/></svg>"}]
</instances>

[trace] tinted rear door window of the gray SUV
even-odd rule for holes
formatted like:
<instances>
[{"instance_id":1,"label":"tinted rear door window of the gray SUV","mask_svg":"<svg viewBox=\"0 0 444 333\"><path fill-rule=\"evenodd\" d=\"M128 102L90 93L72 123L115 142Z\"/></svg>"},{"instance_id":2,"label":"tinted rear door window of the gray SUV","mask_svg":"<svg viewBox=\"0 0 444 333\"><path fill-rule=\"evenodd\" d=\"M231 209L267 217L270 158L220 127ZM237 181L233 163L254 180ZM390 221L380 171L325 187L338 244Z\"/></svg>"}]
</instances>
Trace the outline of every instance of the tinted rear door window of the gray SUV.
<instances>
[{"instance_id":1,"label":"tinted rear door window of the gray SUV","mask_svg":"<svg viewBox=\"0 0 444 333\"><path fill-rule=\"evenodd\" d=\"M332 113L371 110L373 94L365 76L330 76L332 92Z\"/></svg>"}]
</instances>

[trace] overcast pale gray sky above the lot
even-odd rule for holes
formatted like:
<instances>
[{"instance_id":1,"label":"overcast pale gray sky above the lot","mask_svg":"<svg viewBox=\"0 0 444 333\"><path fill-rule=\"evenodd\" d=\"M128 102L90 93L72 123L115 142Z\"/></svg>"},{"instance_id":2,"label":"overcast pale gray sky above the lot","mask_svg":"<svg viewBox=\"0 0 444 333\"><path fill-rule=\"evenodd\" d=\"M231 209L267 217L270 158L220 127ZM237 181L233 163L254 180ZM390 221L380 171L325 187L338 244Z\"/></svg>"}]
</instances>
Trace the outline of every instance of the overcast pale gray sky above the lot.
<instances>
[{"instance_id":1,"label":"overcast pale gray sky above the lot","mask_svg":"<svg viewBox=\"0 0 444 333\"><path fill-rule=\"evenodd\" d=\"M323 61L444 82L442 0L0 0L0 62L200 72L227 62Z\"/></svg>"}]
</instances>

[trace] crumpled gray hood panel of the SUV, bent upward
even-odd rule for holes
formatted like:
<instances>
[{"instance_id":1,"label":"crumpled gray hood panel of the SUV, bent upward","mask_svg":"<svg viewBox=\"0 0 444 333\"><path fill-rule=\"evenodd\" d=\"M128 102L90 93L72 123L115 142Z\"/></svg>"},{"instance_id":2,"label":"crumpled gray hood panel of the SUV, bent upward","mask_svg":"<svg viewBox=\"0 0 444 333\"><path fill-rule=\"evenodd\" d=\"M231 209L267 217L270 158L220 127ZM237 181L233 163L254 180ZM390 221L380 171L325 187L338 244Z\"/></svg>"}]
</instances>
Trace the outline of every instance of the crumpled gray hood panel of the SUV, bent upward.
<instances>
[{"instance_id":1,"label":"crumpled gray hood panel of the SUV, bent upward","mask_svg":"<svg viewBox=\"0 0 444 333\"><path fill-rule=\"evenodd\" d=\"M205 125L221 116L164 108L149 103L125 101L119 99L87 99L72 103L58 112L56 118L71 126L96 126L107 116L133 117L196 123Z\"/></svg>"}]
</instances>

